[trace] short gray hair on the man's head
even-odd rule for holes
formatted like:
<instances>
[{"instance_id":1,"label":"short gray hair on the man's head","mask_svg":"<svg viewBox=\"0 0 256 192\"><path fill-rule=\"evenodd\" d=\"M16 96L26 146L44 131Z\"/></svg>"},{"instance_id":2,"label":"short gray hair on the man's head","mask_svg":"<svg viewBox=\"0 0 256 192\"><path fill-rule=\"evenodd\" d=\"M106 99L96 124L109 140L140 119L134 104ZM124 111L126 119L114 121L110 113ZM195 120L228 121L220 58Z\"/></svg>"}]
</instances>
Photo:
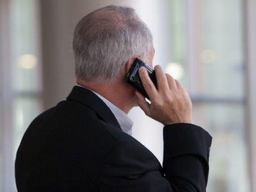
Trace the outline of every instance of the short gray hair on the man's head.
<instances>
[{"instance_id":1,"label":"short gray hair on the man's head","mask_svg":"<svg viewBox=\"0 0 256 192\"><path fill-rule=\"evenodd\" d=\"M134 9L109 5L84 16L74 31L76 77L115 81L132 56L147 61L152 34Z\"/></svg>"}]
</instances>

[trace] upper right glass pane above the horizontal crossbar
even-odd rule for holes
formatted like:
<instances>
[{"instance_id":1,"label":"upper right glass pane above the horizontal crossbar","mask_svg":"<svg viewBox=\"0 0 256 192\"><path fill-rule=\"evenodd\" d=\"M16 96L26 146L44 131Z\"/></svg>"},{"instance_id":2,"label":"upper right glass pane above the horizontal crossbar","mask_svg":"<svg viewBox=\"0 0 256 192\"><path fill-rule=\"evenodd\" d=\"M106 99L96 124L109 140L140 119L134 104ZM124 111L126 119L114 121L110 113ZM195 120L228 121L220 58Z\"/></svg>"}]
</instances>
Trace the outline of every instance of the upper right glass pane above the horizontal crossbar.
<instances>
[{"instance_id":1,"label":"upper right glass pane above the horizontal crossbar","mask_svg":"<svg viewBox=\"0 0 256 192\"><path fill-rule=\"evenodd\" d=\"M243 99L243 4L204 0L204 94Z\"/></svg>"}]
</instances>

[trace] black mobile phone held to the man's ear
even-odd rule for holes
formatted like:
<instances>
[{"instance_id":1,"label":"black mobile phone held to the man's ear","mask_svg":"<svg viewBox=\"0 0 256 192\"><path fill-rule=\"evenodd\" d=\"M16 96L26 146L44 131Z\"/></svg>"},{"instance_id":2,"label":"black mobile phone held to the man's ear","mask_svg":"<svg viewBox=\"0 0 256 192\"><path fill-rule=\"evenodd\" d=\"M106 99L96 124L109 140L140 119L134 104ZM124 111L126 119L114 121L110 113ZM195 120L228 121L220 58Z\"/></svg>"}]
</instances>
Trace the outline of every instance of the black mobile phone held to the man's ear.
<instances>
[{"instance_id":1,"label":"black mobile phone held to the man's ear","mask_svg":"<svg viewBox=\"0 0 256 192\"><path fill-rule=\"evenodd\" d=\"M139 68L144 67L146 68L148 72L148 76L150 77L151 81L154 83L154 85L157 88L157 82L156 82L156 74L155 71L149 67L146 63L143 63L143 61L136 59L132 63L132 67L130 68L127 76L126 81L127 83L131 84L134 88L136 88L144 97L147 97L149 99L147 92L143 88L143 85L140 80L139 76Z\"/></svg>"}]
</instances>

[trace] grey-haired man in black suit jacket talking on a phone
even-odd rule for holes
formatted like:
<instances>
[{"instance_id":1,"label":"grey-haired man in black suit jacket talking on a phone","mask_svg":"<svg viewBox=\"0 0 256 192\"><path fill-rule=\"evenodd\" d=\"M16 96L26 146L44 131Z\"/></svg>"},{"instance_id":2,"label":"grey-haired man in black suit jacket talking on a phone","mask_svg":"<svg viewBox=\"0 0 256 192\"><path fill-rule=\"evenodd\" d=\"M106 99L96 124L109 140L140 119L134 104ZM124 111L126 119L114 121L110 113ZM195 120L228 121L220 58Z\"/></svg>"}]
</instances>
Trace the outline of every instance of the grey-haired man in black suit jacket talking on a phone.
<instances>
[{"instance_id":1,"label":"grey-haired man in black suit jacket talking on a phone","mask_svg":"<svg viewBox=\"0 0 256 192\"><path fill-rule=\"evenodd\" d=\"M77 84L67 100L39 115L17 152L24 191L205 191L211 136L191 124L191 100L156 66L157 89L144 68L150 103L125 81L136 58L152 67L152 35L132 8L107 6L74 31ZM131 108L164 125L163 168L129 134Z\"/></svg>"}]
</instances>

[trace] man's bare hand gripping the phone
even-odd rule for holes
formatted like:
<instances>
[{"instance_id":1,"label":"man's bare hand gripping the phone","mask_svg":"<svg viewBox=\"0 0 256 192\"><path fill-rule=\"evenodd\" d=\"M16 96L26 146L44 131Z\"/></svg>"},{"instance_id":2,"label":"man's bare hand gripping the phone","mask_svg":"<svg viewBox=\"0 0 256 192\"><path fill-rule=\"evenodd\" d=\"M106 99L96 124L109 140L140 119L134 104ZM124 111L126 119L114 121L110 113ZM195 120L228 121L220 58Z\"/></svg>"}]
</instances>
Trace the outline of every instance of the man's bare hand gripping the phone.
<instances>
[{"instance_id":1,"label":"man's bare hand gripping the phone","mask_svg":"<svg viewBox=\"0 0 256 192\"><path fill-rule=\"evenodd\" d=\"M192 122L192 102L188 92L169 74L164 74L159 65L154 67L157 88L148 76L147 70L139 69L141 83L145 88L150 103L136 91L138 106L147 116L164 125Z\"/></svg>"}]
</instances>

